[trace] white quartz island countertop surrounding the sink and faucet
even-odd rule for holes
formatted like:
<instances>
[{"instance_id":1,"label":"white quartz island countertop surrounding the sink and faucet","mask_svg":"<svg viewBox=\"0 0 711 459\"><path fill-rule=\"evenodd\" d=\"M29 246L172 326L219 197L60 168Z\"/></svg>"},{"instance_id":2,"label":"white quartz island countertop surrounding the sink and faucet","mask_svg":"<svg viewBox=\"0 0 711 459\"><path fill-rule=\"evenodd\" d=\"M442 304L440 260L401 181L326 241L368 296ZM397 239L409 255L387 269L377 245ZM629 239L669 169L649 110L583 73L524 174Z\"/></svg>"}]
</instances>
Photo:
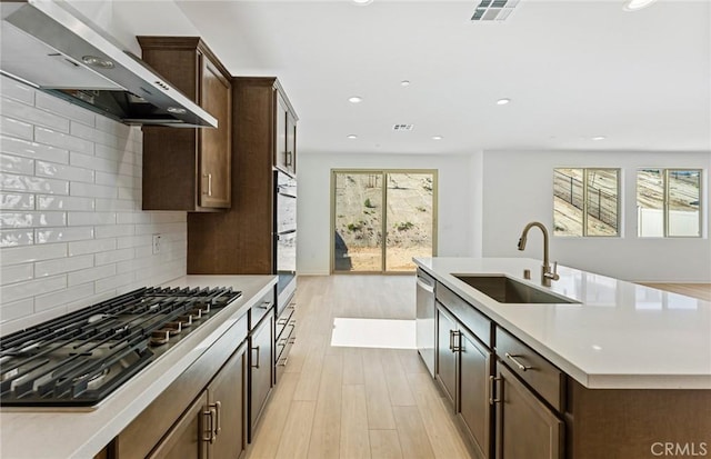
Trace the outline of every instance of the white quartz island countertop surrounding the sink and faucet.
<instances>
[{"instance_id":1,"label":"white quartz island countertop surrounding the sink and faucet","mask_svg":"<svg viewBox=\"0 0 711 459\"><path fill-rule=\"evenodd\" d=\"M560 280L542 287L533 259L414 261L587 388L711 389L709 301L562 266ZM502 273L580 303L499 303L452 273Z\"/></svg>"}]
</instances>

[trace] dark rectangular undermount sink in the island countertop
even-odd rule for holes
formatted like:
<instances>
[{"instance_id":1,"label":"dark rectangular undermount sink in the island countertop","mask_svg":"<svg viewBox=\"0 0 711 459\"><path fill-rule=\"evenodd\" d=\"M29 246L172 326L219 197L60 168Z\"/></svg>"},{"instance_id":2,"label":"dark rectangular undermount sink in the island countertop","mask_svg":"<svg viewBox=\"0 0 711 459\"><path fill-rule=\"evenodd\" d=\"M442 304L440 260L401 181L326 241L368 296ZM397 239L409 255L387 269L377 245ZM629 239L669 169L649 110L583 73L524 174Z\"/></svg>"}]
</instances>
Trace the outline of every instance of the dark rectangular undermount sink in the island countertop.
<instances>
[{"instance_id":1,"label":"dark rectangular undermount sink in the island countertop","mask_svg":"<svg viewBox=\"0 0 711 459\"><path fill-rule=\"evenodd\" d=\"M504 275L452 275L494 301L502 303L579 303L562 296L549 293Z\"/></svg>"}]
</instances>

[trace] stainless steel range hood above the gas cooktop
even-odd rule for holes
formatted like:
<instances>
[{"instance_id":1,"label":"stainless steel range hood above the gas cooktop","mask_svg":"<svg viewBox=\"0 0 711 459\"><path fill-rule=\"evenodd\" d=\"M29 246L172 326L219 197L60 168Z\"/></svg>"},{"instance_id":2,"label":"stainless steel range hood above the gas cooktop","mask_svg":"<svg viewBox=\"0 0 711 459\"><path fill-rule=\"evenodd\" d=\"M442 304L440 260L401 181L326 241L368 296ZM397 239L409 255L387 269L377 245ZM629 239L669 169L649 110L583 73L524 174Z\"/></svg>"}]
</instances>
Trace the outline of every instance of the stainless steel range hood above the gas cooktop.
<instances>
[{"instance_id":1,"label":"stainless steel range hood above the gas cooktop","mask_svg":"<svg viewBox=\"0 0 711 459\"><path fill-rule=\"evenodd\" d=\"M127 124L218 120L66 2L0 2L0 72Z\"/></svg>"}]
</instances>

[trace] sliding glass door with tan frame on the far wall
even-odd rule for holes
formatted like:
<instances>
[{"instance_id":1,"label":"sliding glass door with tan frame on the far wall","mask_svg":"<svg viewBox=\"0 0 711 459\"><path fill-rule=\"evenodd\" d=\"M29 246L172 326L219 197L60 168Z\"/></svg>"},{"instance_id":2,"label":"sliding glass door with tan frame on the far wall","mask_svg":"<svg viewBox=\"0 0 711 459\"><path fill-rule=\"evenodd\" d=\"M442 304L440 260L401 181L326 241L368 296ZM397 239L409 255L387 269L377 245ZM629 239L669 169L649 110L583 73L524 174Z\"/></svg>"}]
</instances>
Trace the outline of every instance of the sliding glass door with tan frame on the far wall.
<instances>
[{"instance_id":1,"label":"sliding glass door with tan frame on the far wall","mask_svg":"<svg viewBox=\"0 0 711 459\"><path fill-rule=\"evenodd\" d=\"M437 252L437 171L333 170L332 272L412 272Z\"/></svg>"}]
</instances>

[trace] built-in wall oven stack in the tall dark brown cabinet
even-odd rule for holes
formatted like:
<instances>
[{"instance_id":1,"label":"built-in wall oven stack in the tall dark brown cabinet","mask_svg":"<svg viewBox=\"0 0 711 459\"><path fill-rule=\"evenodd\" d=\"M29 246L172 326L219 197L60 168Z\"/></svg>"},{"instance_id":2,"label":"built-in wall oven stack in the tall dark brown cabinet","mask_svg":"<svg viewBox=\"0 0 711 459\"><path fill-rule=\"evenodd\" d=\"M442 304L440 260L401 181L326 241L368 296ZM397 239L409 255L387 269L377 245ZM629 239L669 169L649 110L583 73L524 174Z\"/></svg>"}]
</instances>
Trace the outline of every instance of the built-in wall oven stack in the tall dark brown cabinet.
<instances>
[{"instance_id":1,"label":"built-in wall oven stack in the tall dark brown cabinet","mask_svg":"<svg viewBox=\"0 0 711 459\"><path fill-rule=\"evenodd\" d=\"M296 288L297 179L282 171L274 171L274 266L279 276L277 295L281 298L290 297Z\"/></svg>"}]
</instances>

